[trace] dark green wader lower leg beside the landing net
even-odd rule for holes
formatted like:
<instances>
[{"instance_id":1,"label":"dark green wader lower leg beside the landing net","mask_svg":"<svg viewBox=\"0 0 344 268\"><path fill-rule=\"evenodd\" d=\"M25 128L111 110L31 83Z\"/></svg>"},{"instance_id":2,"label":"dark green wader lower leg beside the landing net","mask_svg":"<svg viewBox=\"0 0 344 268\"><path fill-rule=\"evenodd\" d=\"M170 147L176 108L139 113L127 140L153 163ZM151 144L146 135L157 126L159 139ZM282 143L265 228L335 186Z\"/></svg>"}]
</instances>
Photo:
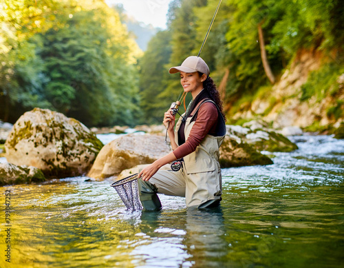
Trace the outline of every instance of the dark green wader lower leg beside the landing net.
<instances>
[{"instance_id":1,"label":"dark green wader lower leg beside the landing net","mask_svg":"<svg viewBox=\"0 0 344 268\"><path fill-rule=\"evenodd\" d=\"M149 181L142 181L141 178L138 179L138 195L144 210L156 212L161 209L157 192L157 187L149 183Z\"/></svg>"}]
</instances>

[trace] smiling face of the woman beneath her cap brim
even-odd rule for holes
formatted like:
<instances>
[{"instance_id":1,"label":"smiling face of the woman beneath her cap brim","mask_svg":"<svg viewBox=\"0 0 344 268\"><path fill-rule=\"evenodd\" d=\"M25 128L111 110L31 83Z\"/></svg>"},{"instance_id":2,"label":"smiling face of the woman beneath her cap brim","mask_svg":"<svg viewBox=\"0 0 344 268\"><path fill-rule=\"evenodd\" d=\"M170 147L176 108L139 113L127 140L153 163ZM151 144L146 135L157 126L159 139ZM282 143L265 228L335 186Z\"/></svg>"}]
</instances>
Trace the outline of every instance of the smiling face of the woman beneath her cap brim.
<instances>
[{"instance_id":1,"label":"smiling face of the woman beneath her cap brim","mask_svg":"<svg viewBox=\"0 0 344 268\"><path fill-rule=\"evenodd\" d=\"M206 74L200 76L198 72L180 72L180 83L184 92L191 92L193 99L203 89L203 81L206 80Z\"/></svg>"}]
</instances>

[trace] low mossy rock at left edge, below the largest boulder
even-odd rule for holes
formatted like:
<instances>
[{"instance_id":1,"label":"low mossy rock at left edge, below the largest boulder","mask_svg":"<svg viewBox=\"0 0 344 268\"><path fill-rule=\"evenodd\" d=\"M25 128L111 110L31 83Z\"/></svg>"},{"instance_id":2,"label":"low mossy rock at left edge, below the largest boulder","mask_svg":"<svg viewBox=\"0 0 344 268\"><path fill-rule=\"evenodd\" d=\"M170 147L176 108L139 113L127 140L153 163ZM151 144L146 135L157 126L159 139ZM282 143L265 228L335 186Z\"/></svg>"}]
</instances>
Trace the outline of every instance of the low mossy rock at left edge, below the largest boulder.
<instances>
[{"instance_id":1,"label":"low mossy rock at left edge, below the largest boulder","mask_svg":"<svg viewBox=\"0 0 344 268\"><path fill-rule=\"evenodd\" d=\"M36 167L27 165L19 167L10 163L0 163L0 186L41 181L45 181L45 176Z\"/></svg>"}]
</instances>

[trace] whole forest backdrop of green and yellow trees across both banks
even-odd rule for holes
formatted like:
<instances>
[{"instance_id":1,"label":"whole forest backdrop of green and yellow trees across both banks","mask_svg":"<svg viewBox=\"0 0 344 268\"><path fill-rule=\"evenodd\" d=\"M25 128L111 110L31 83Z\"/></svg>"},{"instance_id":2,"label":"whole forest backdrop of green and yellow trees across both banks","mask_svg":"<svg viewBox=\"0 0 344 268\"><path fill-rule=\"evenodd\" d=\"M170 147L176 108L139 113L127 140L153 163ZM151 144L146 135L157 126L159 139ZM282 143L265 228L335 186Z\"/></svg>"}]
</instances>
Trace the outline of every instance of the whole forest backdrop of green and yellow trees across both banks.
<instances>
[{"instance_id":1,"label":"whole forest backdrop of green and yellow trees across both banks","mask_svg":"<svg viewBox=\"0 0 344 268\"><path fill-rule=\"evenodd\" d=\"M41 107L89 127L161 123L182 90L168 70L198 54L217 4L171 1L166 30L142 52L104 1L1 1L0 119L13 123ZM288 97L306 105L327 98L327 122L343 118L343 17L339 0L223 0L201 56L228 123L244 122L233 115L255 99L268 103L261 116L285 102L271 92L305 52L321 64Z\"/></svg>"}]
</instances>

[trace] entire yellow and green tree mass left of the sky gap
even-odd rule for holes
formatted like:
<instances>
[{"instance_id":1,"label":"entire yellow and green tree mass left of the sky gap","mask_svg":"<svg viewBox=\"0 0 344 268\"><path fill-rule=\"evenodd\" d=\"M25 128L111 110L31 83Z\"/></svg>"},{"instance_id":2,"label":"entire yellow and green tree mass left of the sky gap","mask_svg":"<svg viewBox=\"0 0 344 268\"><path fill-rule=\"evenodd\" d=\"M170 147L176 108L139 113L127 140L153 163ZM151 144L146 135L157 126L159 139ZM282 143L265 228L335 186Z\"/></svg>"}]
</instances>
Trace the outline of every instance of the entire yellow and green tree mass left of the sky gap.
<instances>
[{"instance_id":1,"label":"entire yellow and green tree mass left of the sky gap","mask_svg":"<svg viewBox=\"0 0 344 268\"><path fill-rule=\"evenodd\" d=\"M100 0L21 0L18 6L9 1L0 15L8 26L0 39L6 48L0 55L6 63L1 118L15 121L23 111L43 107L86 125L136 123L140 50L115 10Z\"/></svg>"}]
</instances>

